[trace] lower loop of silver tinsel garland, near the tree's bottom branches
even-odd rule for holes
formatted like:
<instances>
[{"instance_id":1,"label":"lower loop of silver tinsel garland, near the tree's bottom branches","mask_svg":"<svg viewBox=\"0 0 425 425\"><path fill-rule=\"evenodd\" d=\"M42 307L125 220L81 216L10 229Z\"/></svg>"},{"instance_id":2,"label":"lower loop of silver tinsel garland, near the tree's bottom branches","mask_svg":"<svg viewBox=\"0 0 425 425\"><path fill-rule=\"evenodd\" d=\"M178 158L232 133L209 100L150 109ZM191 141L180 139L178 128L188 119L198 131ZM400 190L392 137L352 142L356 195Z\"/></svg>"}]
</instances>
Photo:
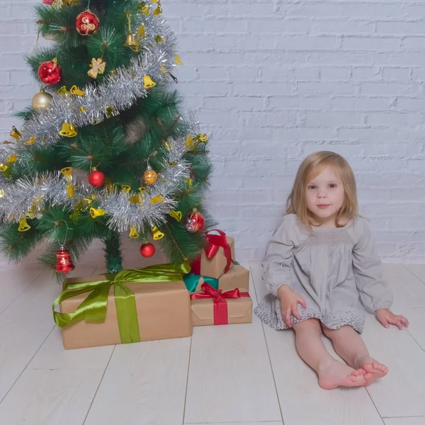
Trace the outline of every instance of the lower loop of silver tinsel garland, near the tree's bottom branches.
<instances>
[{"instance_id":1,"label":"lower loop of silver tinsel garland, near the tree's bottom branches","mask_svg":"<svg viewBox=\"0 0 425 425\"><path fill-rule=\"evenodd\" d=\"M86 183L69 182L59 173L44 173L33 179L24 177L15 183L9 183L0 175L0 220L18 222L28 212L42 212L46 205L74 208L79 200L94 196L98 208L108 215L108 225L112 229L125 232L132 225L142 230L146 224L151 227L160 225L176 206L174 194L185 187L185 179L191 176L191 164L181 159L184 152L184 139L169 140L166 167L158 173L157 182L142 193L142 204L129 201L129 197L137 193L137 188L132 188L130 193L116 189L111 193L107 188L98 190ZM74 186L76 198L68 196L67 186L70 183ZM159 197L162 198L161 202L151 202Z\"/></svg>"}]
</instances>

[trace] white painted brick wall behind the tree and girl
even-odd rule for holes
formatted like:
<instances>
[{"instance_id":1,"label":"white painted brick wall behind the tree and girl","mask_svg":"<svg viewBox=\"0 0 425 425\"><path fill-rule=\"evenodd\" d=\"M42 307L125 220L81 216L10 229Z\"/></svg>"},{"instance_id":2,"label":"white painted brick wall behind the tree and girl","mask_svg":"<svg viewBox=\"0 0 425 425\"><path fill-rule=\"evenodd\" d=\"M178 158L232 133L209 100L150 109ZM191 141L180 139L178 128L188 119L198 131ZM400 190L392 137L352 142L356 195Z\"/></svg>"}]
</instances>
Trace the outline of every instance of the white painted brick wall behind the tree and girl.
<instances>
[{"instance_id":1,"label":"white painted brick wall behind the tree and girl","mask_svg":"<svg viewBox=\"0 0 425 425\"><path fill-rule=\"evenodd\" d=\"M33 4L1 0L0 131L37 90L23 55ZM425 4L421 0L163 0L178 89L212 134L210 209L259 259L300 161L343 154L386 261L425 261ZM41 41L42 42L42 41Z\"/></svg>"}]
</instances>

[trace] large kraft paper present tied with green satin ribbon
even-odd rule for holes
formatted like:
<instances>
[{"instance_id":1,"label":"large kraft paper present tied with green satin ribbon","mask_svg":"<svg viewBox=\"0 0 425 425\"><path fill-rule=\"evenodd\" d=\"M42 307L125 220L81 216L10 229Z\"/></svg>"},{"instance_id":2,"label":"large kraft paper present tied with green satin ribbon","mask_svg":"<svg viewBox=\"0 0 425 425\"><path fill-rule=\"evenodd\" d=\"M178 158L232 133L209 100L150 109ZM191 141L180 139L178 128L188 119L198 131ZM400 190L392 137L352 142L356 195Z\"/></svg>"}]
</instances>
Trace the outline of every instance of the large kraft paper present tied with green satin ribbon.
<instances>
[{"instance_id":1,"label":"large kraft paper present tied with green satin ribbon","mask_svg":"<svg viewBox=\"0 0 425 425\"><path fill-rule=\"evenodd\" d=\"M187 265L164 264L67 279L53 304L64 348L191 336L191 300L182 278L187 271Z\"/></svg>"}]
</instances>

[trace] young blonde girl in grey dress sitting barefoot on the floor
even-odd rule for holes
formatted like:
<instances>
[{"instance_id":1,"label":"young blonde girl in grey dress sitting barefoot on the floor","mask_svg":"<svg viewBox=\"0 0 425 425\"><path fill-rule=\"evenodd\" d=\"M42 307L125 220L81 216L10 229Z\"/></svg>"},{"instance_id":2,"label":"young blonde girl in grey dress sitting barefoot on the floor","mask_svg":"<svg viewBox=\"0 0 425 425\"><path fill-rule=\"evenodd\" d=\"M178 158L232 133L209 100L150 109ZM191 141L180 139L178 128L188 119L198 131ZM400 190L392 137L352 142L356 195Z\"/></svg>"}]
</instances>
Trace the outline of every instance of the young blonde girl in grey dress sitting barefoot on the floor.
<instances>
[{"instance_id":1,"label":"young blonde girl in grey dress sitting barefoot on the floor","mask_svg":"<svg viewBox=\"0 0 425 425\"><path fill-rule=\"evenodd\" d=\"M389 310L392 293L368 222L358 215L356 181L343 157L316 152L302 162L263 268L271 293L255 313L274 329L293 327L297 351L322 388L370 385L387 374L359 336L365 309L384 327L409 322ZM349 366L328 353L322 331Z\"/></svg>"}]
</instances>

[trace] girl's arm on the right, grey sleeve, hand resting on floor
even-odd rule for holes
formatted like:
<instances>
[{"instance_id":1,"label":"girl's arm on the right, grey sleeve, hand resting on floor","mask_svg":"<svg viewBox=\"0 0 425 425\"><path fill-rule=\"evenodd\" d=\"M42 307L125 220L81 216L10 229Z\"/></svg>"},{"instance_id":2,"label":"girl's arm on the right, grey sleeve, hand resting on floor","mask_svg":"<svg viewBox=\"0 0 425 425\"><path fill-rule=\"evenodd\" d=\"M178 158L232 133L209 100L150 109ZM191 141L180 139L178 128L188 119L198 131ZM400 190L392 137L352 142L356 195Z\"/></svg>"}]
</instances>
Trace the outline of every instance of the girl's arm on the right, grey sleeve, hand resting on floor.
<instances>
[{"instance_id":1,"label":"girl's arm on the right, grey sleeve, hand resting on floor","mask_svg":"<svg viewBox=\"0 0 425 425\"><path fill-rule=\"evenodd\" d=\"M402 324L409 323L405 317L388 310L392 305L392 290L382 277L382 262L375 250L372 233L364 218L359 217L356 225L359 237L353 248L353 270L361 302L366 310L376 314L383 326L396 324L402 329Z\"/></svg>"}]
</instances>

